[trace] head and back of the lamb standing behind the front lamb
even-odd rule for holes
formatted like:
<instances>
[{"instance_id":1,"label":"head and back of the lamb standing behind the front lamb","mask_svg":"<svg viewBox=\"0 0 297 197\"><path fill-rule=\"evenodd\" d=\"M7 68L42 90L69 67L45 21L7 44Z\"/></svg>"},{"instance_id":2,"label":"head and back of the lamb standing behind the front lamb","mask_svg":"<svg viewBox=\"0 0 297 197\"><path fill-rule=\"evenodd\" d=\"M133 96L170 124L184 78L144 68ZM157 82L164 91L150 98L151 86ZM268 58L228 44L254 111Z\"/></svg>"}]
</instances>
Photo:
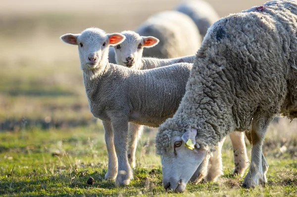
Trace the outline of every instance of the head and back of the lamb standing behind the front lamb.
<instances>
[{"instance_id":1,"label":"head and back of the lamb standing behind the front lamb","mask_svg":"<svg viewBox=\"0 0 297 197\"><path fill-rule=\"evenodd\" d=\"M115 61L118 65L144 70L182 62L193 63L195 60L195 55L174 59L143 58L144 48L156 46L159 40L153 36L140 36L134 31L123 31L121 34L126 39L114 47Z\"/></svg>"}]
</instances>

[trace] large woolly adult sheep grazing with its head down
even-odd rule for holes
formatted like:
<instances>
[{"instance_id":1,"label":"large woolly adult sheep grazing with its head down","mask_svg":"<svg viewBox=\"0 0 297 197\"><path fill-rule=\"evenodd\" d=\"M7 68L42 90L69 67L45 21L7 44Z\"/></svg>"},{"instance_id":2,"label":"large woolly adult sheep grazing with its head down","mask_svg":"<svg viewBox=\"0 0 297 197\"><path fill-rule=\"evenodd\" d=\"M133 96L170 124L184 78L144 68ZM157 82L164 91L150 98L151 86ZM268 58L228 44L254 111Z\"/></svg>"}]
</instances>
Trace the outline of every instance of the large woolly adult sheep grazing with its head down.
<instances>
[{"instance_id":1,"label":"large woolly adult sheep grazing with its head down","mask_svg":"<svg viewBox=\"0 0 297 197\"><path fill-rule=\"evenodd\" d=\"M296 34L297 2L290 0L231 14L208 29L186 94L156 135L165 189L183 192L212 146L232 131L246 131L252 145L243 187L267 182L267 127L277 114L297 118Z\"/></svg>"}]
</instances>

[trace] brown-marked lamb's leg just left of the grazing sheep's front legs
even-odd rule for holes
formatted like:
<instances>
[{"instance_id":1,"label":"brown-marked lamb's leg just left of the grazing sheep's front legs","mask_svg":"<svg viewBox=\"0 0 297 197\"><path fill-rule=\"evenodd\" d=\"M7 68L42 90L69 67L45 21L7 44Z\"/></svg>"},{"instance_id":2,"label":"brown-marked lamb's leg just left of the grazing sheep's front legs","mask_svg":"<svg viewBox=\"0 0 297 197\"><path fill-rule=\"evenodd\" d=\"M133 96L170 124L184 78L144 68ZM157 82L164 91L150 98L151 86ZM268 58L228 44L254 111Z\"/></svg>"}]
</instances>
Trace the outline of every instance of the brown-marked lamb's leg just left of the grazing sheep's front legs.
<instances>
[{"instance_id":1,"label":"brown-marked lamb's leg just left of the grazing sheep's front legs","mask_svg":"<svg viewBox=\"0 0 297 197\"><path fill-rule=\"evenodd\" d=\"M233 131L230 133L233 147L235 169L233 174L243 176L248 167L247 148L244 132Z\"/></svg>"}]
</instances>

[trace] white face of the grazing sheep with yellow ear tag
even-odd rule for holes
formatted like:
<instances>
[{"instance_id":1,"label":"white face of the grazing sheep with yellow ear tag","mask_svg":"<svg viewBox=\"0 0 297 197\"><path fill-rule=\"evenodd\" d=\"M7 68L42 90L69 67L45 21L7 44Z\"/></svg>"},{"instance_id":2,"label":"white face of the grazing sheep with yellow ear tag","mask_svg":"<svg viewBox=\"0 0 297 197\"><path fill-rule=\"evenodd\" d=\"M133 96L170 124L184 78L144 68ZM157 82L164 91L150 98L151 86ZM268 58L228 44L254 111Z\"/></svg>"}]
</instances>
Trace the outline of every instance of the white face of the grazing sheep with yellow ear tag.
<instances>
[{"instance_id":1,"label":"white face of the grazing sheep with yellow ear tag","mask_svg":"<svg viewBox=\"0 0 297 197\"><path fill-rule=\"evenodd\" d=\"M200 148L195 137L197 130L186 131L172 139L169 151L161 154L165 190L184 192L187 183L204 159L206 148Z\"/></svg>"}]
</instances>

